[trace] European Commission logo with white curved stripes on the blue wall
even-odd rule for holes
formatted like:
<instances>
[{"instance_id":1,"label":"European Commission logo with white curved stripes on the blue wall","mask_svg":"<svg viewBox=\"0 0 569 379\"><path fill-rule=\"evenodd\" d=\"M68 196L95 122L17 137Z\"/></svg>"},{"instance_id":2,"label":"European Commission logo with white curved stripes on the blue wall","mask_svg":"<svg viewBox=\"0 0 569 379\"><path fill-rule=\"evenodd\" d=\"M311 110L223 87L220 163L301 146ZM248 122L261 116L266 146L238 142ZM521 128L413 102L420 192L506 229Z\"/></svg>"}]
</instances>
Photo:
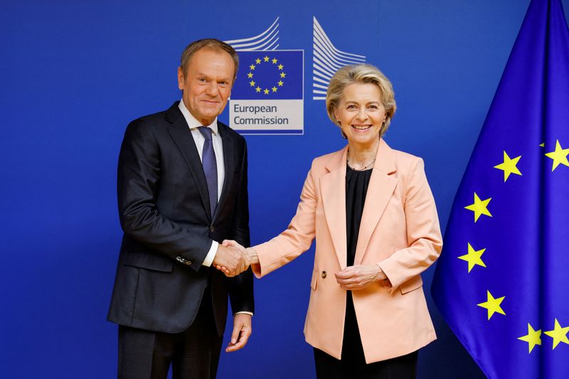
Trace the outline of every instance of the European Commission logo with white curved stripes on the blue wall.
<instances>
[{"instance_id":1,"label":"European Commission logo with white curved stripes on the blue wall","mask_svg":"<svg viewBox=\"0 0 569 379\"><path fill-rule=\"evenodd\" d=\"M336 70L366 61L334 47L314 17L312 100L324 100ZM225 41L240 68L229 101L230 127L240 134L304 134L304 50L279 48L279 18L258 36Z\"/></svg>"}]
</instances>

